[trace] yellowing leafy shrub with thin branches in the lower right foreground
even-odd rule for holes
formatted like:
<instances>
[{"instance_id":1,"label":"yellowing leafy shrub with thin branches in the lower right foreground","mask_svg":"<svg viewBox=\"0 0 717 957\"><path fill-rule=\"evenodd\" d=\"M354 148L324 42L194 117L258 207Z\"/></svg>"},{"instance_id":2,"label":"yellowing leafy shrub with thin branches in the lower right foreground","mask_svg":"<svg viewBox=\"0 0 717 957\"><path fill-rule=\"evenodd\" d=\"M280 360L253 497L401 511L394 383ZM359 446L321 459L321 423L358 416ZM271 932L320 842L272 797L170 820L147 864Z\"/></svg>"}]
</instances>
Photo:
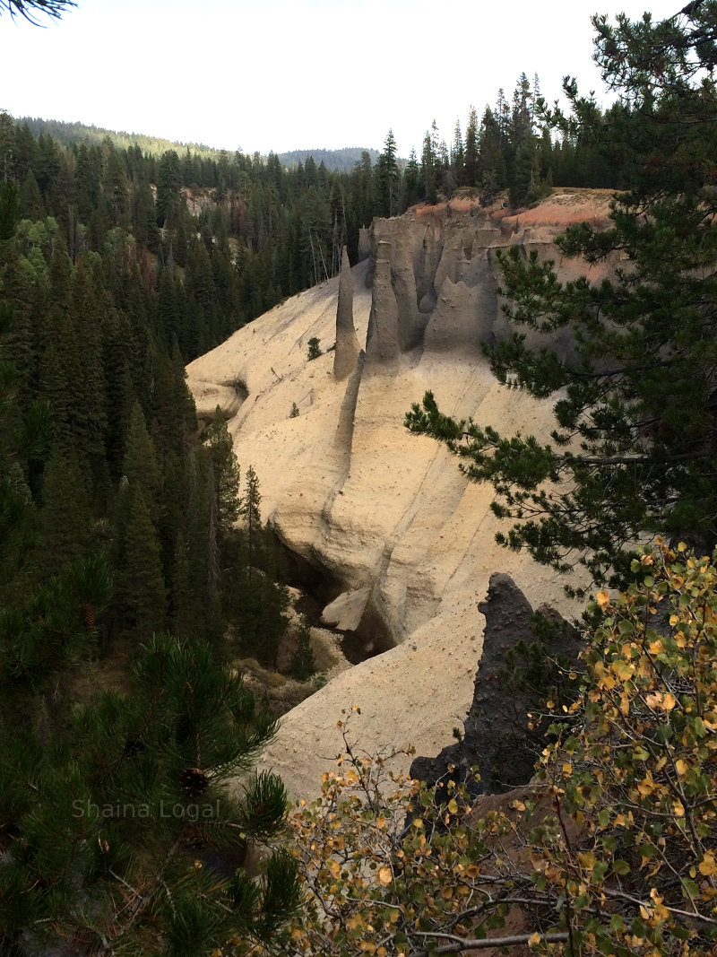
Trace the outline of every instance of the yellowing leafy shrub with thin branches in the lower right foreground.
<instances>
[{"instance_id":1,"label":"yellowing leafy shrub with thin branches in the lower right foreground","mask_svg":"<svg viewBox=\"0 0 717 957\"><path fill-rule=\"evenodd\" d=\"M597 593L529 786L439 798L339 722L346 753L291 815L306 906L284 953L715 952L717 568L660 539L638 554L634 584Z\"/></svg>"}]
</instances>

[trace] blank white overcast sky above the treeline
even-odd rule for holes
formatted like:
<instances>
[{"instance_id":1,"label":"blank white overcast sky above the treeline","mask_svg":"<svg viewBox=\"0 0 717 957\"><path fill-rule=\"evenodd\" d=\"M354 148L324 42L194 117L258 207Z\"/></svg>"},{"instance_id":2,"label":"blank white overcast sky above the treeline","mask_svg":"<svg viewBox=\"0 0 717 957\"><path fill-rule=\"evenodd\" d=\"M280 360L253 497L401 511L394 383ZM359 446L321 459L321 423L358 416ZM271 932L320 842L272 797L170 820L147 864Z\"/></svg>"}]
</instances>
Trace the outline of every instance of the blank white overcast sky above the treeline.
<instances>
[{"instance_id":1,"label":"blank white overcast sky above the treeline","mask_svg":"<svg viewBox=\"0 0 717 957\"><path fill-rule=\"evenodd\" d=\"M611 6L609 4L614 4ZM649 4L649 6L648 6ZM590 14L684 0L78 0L38 29L0 17L0 108L244 152L421 152L450 143L521 71L543 96L566 74L603 87Z\"/></svg>"}]
</instances>

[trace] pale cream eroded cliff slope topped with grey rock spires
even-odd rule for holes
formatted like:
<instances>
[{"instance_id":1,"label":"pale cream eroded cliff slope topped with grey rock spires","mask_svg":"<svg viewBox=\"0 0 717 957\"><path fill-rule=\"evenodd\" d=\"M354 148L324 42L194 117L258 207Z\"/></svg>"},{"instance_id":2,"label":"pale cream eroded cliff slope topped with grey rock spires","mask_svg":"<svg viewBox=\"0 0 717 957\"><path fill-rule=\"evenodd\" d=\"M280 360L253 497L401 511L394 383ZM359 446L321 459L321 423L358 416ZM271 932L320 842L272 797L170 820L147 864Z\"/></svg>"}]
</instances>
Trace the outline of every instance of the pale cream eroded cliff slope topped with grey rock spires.
<instances>
[{"instance_id":1,"label":"pale cream eroded cliff slope topped with grey rock spires","mask_svg":"<svg viewBox=\"0 0 717 957\"><path fill-rule=\"evenodd\" d=\"M561 261L554 237L570 222L606 224L608 201L575 190L519 215L463 200L376 220L350 274L344 260L340 278L187 367L200 414L220 405L228 416L240 463L260 479L264 517L293 554L294 573L322 598L324 621L355 633L374 656L284 718L262 764L294 794L318 789L319 768L340 750L341 708L354 703L368 750L413 744L433 754L449 743L472 697L477 605L491 572L510 573L533 605L565 605L550 569L495 545L492 490L468 484L454 458L402 420L432 389L444 412L549 434L549 405L499 386L481 353L482 341L509 331L495 250L534 249L573 278L584 265ZM313 337L336 351L308 362Z\"/></svg>"}]
</instances>

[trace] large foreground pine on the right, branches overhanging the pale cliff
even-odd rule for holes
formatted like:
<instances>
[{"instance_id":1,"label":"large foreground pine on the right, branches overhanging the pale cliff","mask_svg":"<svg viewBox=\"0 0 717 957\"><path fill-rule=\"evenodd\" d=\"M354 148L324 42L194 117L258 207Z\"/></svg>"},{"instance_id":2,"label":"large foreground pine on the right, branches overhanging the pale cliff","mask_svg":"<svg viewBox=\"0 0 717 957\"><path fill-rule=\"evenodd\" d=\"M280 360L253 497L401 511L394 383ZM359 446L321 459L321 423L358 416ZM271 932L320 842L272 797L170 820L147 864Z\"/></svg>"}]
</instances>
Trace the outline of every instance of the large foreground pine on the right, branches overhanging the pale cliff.
<instances>
[{"instance_id":1,"label":"large foreground pine on the right, branches overhanging the pale cliff","mask_svg":"<svg viewBox=\"0 0 717 957\"><path fill-rule=\"evenodd\" d=\"M557 245L588 264L628 261L592 285L560 283L536 254L501 255L509 315L545 345L516 333L487 350L502 382L557 394L554 444L455 422L430 394L408 418L464 456L470 478L492 482L495 513L518 520L501 541L561 571L580 561L603 582L629 569L644 536L707 551L717 538L717 88L705 72L717 65L717 20L698 3L663 23L594 25L597 60L623 101L606 125L568 81L573 115L549 119L573 136L597 131L629 189L611 229L583 223ZM556 330L571 335L567 354L551 348Z\"/></svg>"}]
</instances>

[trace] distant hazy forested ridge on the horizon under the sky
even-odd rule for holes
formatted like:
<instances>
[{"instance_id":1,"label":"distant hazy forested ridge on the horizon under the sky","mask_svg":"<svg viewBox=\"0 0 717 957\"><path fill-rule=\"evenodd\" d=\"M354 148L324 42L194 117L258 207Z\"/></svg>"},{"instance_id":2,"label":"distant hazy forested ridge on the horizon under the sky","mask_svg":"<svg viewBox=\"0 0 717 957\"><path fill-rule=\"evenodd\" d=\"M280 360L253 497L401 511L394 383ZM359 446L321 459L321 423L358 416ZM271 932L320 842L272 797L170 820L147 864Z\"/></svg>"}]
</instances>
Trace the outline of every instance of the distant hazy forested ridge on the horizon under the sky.
<instances>
[{"instance_id":1,"label":"distant hazy forested ridge on the horizon under the sky","mask_svg":"<svg viewBox=\"0 0 717 957\"><path fill-rule=\"evenodd\" d=\"M78 121L66 122L64 120L43 120L40 117L18 117L16 122L19 125L27 123L35 137L43 134L49 135L65 146L73 143L99 145L109 137L120 149L137 144L141 147L143 153L152 153L156 156L162 155L168 149L175 149L178 152L184 152L188 149L200 156L218 159L222 152L229 152L203 143L181 143L179 141L163 140L161 137L147 136L144 133L105 129L103 126L87 125ZM240 152L242 151L241 146L238 149ZM348 172L360 162L361 155L364 152L371 157L373 166L379 158L379 150L364 149L361 146L344 146L342 149L293 149L287 153L278 153L277 155L281 163L287 167L305 163L310 156L313 156L316 166L323 162L327 169Z\"/></svg>"}]
</instances>

